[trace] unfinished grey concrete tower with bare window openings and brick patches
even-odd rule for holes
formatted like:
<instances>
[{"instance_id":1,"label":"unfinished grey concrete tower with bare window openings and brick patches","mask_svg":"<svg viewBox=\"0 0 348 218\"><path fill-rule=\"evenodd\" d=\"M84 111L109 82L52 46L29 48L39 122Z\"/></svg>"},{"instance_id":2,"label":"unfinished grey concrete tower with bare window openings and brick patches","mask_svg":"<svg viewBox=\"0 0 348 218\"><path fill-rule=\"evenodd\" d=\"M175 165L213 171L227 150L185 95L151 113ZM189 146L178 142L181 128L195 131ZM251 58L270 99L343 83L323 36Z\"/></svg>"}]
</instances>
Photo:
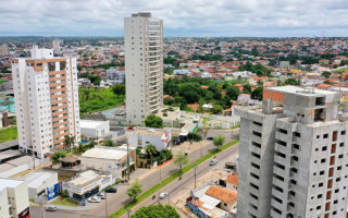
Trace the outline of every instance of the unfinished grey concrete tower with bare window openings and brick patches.
<instances>
[{"instance_id":1,"label":"unfinished grey concrete tower with bare window openings and brick patches","mask_svg":"<svg viewBox=\"0 0 348 218\"><path fill-rule=\"evenodd\" d=\"M334 92L263 90L240 117L237 218L346 217L348 122Z\"/></svg>"}]
</instances>

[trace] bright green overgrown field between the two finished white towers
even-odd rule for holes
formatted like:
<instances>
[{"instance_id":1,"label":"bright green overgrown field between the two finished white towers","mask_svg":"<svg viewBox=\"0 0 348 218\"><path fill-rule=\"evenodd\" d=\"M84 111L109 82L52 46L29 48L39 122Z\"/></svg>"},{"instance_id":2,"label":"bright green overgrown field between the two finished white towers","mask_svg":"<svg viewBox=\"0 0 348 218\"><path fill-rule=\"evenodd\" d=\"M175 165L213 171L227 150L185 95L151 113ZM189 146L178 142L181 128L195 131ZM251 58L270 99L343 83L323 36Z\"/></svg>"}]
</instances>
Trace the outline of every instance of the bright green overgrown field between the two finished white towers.
<instances>
[{"instance_id":1,"label":"bright green overgrown field between the two finished white towers","mask_svg":"<svg viewBox=\"0 0 348 218\"><path fill-rule=\"evenodd\" d=\"M88 96L88 97L87 97ZM125 96L116 96L112 88L79 88L79 111L82 114L102 111L120 106Z\"/></svg>"}]
</instances>

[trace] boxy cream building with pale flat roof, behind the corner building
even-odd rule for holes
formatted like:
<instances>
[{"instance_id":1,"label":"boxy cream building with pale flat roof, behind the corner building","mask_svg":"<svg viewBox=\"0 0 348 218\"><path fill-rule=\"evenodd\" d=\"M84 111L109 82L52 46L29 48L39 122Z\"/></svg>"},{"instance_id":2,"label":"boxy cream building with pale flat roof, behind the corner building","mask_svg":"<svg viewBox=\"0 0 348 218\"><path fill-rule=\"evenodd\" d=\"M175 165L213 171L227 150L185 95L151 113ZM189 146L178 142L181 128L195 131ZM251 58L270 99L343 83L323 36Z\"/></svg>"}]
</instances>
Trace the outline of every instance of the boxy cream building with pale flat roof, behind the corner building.
<instances>
[{"instance_id":1,"label":"boxy cream building with pale flat roof, behind the corner building","mask_svg":"<svg viewBox=\"0 0 348 218\"><path fill-rule=\"evenodd\" d=\"M128 147L129 150L129 169L135 170L136 153L134 147ZM112 177L123 178L127 174L127 147L104 147L96 146L78 157L80 168L95 169L103 172L110 172Z\"/></svg>"}]
</instances>

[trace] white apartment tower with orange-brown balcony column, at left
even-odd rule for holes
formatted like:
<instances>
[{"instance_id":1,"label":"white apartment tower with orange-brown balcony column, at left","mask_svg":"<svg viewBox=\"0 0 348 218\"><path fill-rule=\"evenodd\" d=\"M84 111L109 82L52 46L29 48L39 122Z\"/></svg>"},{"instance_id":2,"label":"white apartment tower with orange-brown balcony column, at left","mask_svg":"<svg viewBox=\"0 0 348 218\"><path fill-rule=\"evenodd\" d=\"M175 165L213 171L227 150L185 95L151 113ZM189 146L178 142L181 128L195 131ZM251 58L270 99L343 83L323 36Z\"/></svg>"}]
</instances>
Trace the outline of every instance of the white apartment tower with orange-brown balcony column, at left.
<instances>
[{"instance_id":1,"label":"white apartment tower with orange-brown balcony column, at left","mask_svg":"<svg viewBox=\"0 0 348 218\"><path fill-rule=\"evenodd\" d=\"M33 47L30 59L13 59L12 76L20 149L44 158L63 148L65 135L80 141L75 58L53 58Z\"/></svg>"}]
</instances>

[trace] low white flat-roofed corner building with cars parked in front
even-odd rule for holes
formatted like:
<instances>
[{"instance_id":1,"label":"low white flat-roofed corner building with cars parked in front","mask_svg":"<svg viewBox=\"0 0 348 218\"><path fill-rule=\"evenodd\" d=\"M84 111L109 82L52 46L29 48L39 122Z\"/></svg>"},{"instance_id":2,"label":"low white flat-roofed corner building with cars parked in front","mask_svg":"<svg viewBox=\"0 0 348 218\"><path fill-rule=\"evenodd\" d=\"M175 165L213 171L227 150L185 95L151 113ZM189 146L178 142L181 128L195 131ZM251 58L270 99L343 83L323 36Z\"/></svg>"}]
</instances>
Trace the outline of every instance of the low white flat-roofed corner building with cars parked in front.
<instances>
[{"instance_id":1,"label":"low white flat-roofed corner building with cars parked in front","mask_svg":"<svg viewBox=\"0 0 348 218\"><path fill-rule=\"evenodd\" d=\"M62 183L63 191L67 191L70 197L82 201L86 199L100 190L113 184L112 175L87 170Z\"/></svg>"}]
</instances>

